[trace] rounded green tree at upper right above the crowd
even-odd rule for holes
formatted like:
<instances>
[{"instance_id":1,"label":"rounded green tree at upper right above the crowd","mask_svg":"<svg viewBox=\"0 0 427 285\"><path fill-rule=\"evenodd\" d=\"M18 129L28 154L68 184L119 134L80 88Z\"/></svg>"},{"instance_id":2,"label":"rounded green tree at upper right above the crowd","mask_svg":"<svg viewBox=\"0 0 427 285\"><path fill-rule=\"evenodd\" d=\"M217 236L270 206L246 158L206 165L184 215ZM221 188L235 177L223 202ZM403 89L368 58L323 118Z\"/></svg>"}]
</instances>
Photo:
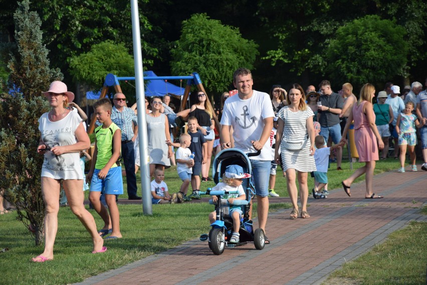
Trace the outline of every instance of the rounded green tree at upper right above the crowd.
<instances>
[{"instance_id":1,"label":"rounded green tree at upper right above the crowd","mask_svg":"<svg viewBox=\"0 0 427 285\"><path fill-rule=\"evenodd\" d=\"M385 82L406 75L405 30L395 21L366 16L339 28L326 51L328 71L341 82Z\"/></svg>"}]
</instances>

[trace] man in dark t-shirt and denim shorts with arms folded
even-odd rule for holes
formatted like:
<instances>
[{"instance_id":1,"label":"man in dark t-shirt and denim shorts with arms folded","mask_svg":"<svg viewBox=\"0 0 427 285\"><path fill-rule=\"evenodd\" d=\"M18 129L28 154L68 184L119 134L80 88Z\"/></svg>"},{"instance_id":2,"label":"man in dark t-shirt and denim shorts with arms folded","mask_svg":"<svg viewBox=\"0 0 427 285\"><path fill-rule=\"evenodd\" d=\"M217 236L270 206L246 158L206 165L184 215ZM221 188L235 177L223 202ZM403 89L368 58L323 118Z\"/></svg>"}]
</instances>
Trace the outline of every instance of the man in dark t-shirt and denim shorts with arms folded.
<instances>
[{"instance_id":1,"label":"man in dark t-shirt and denim shorts with arms folded","mask_svg":"<svg viewBox=\"0 0 427 285\"><path fill-rule=\"evenodd\" d=\"M323 80L319 84L320 91L323 95L320 96L318 120L321 126L320 135L327 142L331 136L334 144L341 140L341 126L339 124L339 114L341 114L344 105L342 97L335 92L332 92L331 84L327 80ZM342 148L335 150L337 157L337 170L341 170Z\"/></svg>"}]
</instances>

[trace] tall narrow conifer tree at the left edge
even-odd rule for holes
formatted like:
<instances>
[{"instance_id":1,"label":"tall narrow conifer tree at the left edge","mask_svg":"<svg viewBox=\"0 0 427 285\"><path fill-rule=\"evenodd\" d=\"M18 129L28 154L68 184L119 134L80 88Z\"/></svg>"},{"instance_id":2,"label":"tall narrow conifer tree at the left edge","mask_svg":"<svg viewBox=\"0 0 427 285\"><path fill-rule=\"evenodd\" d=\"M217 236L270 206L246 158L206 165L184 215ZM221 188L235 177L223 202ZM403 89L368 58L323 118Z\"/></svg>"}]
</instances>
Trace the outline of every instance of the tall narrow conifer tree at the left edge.
<instances>
[{"instance_id":1,"label":"tall narrow conifer tree at the left edge","mask_svg":"<svg viewBox=\"0 0 427 285\"><path fill-rule=\"evenodd\" d=\"M8 86L0 99L0 189L17 208L18 218L35 227L36 244L40 244L45 204L40 184L43 156L36 152L38 119L49 108L42 91L48 90L50 82L61 80L62 74L49 68L41 21L29 11L29 0L19 3L14 19L18 52L11 55Z\"/></svg>"}]
</instances>

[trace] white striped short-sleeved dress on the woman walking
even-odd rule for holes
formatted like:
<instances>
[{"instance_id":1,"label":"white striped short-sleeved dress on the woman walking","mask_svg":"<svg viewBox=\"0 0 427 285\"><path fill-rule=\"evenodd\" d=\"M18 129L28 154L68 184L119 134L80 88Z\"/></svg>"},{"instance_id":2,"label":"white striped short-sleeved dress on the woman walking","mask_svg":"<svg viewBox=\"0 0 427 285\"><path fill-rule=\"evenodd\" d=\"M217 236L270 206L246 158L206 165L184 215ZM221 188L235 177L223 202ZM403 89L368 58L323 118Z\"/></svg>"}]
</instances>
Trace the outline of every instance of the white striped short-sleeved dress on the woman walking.
<instances>
[{"instance_id":1,"label":"white striped short-sleeved dress on the woman walking","mask_svg":"<svg viewBox=\"0 0 427 285\"><path fill-rule=\"evenodd\" d=\"M277 116L283 120L283 137L284 140L302 141L308 137L307 118L314 116L311 108L307 107L305 111L292 112L288 106L280 109ZM283 171L293 168L301 172L316 171L314 156L310 155L310 138L307 146L301 150L288 150L280 145L282 155Z\"/></svg>"}]
</instances>

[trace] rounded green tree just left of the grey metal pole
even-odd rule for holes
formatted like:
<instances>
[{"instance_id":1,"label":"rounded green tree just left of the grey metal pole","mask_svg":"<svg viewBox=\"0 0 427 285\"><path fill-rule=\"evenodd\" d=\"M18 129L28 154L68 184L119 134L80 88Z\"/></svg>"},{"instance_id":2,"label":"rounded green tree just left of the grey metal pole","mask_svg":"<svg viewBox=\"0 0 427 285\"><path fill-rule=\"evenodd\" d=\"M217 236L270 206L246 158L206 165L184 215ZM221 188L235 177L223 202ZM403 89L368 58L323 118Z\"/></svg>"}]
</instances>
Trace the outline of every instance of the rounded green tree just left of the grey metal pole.
<instances>
[{"instance_id":1,"label":"rounded green tree just left of the grey metal pole","mask_svg":"<svg viewBox=\"0 0 427 285\"><path fill-rule=\"evenodd\" d=\"M132 76L135 73L133 57L124 44L109 40L93 45L87 53L72 57L70 68L75 80L96 89L103 86L108 73L117 76Z\"/></svg>"}]
</instances>

